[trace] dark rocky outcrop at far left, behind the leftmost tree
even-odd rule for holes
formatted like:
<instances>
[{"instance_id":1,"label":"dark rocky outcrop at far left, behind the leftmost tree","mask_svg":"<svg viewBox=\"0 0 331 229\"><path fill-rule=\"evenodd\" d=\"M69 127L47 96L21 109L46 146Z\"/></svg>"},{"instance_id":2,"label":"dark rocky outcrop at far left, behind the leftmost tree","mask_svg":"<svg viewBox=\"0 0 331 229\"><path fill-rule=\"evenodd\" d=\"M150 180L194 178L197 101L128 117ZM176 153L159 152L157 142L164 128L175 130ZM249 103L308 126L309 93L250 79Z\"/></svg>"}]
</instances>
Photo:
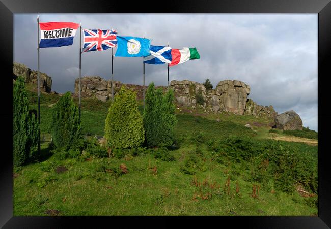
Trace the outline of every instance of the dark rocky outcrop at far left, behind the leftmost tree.
<instances>
[{"instance_id":1,"label":"dark rocky outcrop at far left, behind the leftmost tree","mask_svg":"<svg viewBox=\"0 0 331 229\"><path fill-rule=\"evenodd\" d=\"M26 84L34 85L34 89L38 86L38 71L27 68L22 63L13 63L13 84L18 76L22 76ZM52 87L52 78L45 73L40 72L39 79L40 90L50 93Z\"/></svg>"}]
</instances>

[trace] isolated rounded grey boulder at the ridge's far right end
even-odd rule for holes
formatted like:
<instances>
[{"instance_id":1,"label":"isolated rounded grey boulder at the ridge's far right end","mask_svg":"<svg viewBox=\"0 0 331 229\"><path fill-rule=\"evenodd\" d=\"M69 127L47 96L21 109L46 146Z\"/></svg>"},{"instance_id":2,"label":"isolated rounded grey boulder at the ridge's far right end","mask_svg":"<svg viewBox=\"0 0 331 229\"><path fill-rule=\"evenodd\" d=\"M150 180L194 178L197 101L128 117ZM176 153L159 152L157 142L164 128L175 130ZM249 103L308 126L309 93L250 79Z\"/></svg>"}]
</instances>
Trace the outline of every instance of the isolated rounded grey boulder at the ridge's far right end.
<instances>
[{"instance_id":1,"label":"isolated rounded grey boulder at the ridge's far right end","mask_svg":"<svg viewBox=\"0 0 331 229\"><path fill-rule=\"evenodd\" d=\"M294 111L286 111L274 119L276 128L284 130L302 130L302 120Z\"/></svg>"}]
</instances>

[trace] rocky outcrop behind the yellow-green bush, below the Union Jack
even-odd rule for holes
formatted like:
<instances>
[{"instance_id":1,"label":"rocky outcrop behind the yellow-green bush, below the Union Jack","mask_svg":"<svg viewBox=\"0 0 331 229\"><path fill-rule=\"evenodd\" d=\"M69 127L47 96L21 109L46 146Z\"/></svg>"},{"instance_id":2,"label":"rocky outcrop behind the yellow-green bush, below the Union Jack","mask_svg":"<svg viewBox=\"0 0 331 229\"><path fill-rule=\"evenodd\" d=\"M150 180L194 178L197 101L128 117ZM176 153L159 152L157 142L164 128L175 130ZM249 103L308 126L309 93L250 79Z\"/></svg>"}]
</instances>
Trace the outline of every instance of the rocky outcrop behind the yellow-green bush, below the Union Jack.
<instances>
[{"instance_id":1,"label":"rocky outcrop behind the yellow-green bush, below the Union Jack","mask_svg":"<svg viewBox=\"0 0 331 229\"><path fill-rule=\"evenodd\" d=\"M140 85L134 84L123 84L120 81L114 81L114 96L120 91L122 85L125 86L126 89L130 89L131 91L136 92L137 99L143 99L143 90L144 87ZM156 86L155 88L162 88L166 90L167 87ZM145 86L146 92L147 86ZM79 94L79 78L75 80L75 92L74 96L78 96ZM81 97L96 97L96 99L106 102L112 98L112 81L105 80L100 76L84 76L81 77Z\"/></svg>"}]
</instances>

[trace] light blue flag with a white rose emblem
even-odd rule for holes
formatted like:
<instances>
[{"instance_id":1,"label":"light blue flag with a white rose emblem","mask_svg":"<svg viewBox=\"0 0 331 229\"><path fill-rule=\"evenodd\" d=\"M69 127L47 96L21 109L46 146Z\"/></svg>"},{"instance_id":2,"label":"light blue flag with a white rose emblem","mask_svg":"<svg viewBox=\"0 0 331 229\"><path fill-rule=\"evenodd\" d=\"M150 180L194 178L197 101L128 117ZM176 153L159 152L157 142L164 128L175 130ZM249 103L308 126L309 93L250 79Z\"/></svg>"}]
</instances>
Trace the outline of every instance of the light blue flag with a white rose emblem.
<instances>
[{"instance_id":1,"label":"light blue flag with a white rose emblem","mask_svg":"<svg viewBox=\"0 0 331 229\"><path fill-rule=\"evenodd\" d=\"M141 57L149 56L151 40L137 37L117 36L117 50L115 56Z\"/></svg>"}]
</instances>

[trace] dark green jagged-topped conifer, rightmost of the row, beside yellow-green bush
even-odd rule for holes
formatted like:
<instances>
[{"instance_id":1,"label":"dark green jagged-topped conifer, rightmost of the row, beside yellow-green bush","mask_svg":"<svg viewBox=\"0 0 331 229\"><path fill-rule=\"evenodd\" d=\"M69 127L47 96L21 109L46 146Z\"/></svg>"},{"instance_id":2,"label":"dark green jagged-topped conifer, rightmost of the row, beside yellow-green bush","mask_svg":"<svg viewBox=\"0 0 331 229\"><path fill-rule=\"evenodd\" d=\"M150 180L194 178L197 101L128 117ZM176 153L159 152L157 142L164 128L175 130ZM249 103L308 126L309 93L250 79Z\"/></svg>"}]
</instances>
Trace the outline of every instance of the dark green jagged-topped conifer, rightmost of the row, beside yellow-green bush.
<instances>
[{"instance_id":1,"label":"dark green jagged-topped conifer, rightmost of the row, beside yellow-green bush","mask_svg":"<svg viewBox=\"0 0 331 229\"><path fill-rule=\"evenodd\" d=\"M173 90L163 96L162 88L155 90L152 82L148 86L145 103L143 117L147 144L151 147L172 145L177 123Z\"/></svg>"}]
</instances>

